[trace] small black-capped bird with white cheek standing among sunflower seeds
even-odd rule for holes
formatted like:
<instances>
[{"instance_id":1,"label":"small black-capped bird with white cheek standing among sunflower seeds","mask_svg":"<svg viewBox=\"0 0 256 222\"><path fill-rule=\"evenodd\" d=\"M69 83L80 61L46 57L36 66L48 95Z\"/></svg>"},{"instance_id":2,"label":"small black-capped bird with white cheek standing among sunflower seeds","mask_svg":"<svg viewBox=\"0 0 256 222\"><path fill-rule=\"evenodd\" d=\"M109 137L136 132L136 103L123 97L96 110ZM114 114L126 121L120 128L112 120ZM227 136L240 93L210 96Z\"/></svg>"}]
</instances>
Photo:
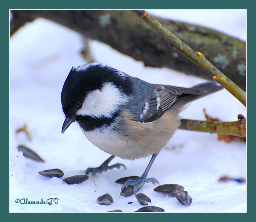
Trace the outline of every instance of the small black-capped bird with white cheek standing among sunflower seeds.
<instances>
[{"instance_id":1,"label":"small black-capped bird with white cheek standing among sunflower seeds","mask_svg":"<svg viewBox=\"0 0 256 222\"><path fill-rule=\"evenodd\" d=\"M86 173L124 166L108 166L115 156L134 160L152 155L142 176L128 180L122 187L132 186L135 193L145 182L158 183L147 175L180 126L178 114L184 105L221 89L215 82L192 88L149 84L98 62L73 67L61 92L66 116L62 133L78 122L91 143L111 154L101 166L88 168Z\"/></svg>"}]
</instances>

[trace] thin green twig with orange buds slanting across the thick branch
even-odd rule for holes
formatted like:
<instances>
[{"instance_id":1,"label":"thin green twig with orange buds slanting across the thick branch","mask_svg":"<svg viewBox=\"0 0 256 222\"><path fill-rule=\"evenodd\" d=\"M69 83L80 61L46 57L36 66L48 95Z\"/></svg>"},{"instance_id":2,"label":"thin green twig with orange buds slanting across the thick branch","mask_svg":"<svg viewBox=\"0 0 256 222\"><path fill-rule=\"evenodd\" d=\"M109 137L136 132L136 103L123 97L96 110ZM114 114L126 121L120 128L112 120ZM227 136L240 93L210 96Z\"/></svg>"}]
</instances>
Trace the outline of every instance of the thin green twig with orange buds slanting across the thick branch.
<instances>
[{"instance_id":1,"label":"thin green twig with orange buds slanting across the thick branch","mask_svg":"<svg viewBox=\"0 0 256 222\"><path fill-rule=\"evenodd\" d=\"M195 52L183 41L166 29L162 24L156 21L152 16L144 10L133 10L140 18L149 24L155 31L165 38L175 49L187 56L192 62L201 67L208 75L210 75L215 81L221 84L227 91L235 96L244 106L246 106L246 94L241 88L239 88L234 82L232 82L227 76L219 71L214 65L212 65L201 52Z\"/></svg>"}]
</instances>

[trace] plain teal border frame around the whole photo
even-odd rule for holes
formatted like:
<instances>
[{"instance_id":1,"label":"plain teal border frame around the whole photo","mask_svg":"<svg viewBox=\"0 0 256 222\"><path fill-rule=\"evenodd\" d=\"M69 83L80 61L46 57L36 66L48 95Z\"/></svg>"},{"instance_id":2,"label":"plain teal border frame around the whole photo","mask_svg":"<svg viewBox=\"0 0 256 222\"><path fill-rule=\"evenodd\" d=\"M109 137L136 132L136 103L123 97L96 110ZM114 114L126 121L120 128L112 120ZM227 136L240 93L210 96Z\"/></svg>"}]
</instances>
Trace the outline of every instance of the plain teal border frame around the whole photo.
<instances>
[{"instance_id":1,"label":"plain teal border frame around the whole photo","mask_svg":"<svg viewBox=\"0 0 256 222\"><path fill-rule=\"evenodd\" d=\"M2 217L5 219L8 217L8 220L22 220L24 219L31 219L32 220L77 220L78 218L74 217L80 217L82 220L106 220L106 219L114 219L123 221L134 219L137 220L145 220L149 219L151 221L154 220L198 220L198 221L211 221L221 218L221 220L232 220L232 221L241 221L241 220L249 220L249 216L252 214L252 208L255 206L254 201L252 201L253 195L251 195L251 187L253 186L253 176L255 176L254 172L254 166L252 159L254 158L255 149L253 148L253 142L251 141L251 131L250 128L252 125L254 125L254 118L250 118L250 114L252 114L252 108L250 103L250 98L253 96L253 93L251 92L252 88L251 84L253 83L253 80L255 78L255 75L250 69L250 64L253 64L253 62L250 62L252 59L255 58L254 55L251 55L251 48L255 48L254 44L250 44L250 47L247 45L247 94L250 95L247 97L247 119L250 120L250 122L247 122L247 213L143 213L143 214L133 214L133 213L86 213L86 214L79 214L79 213L67 213L66 215L63 215L63 213L50 213L51 215L48 215L48 213L40 213L40 215L35 215L35 213L9 213L9 192L5 192L5 190L9 191L9 170L5 170L6 166L9 166L9 9L247 9L247 43L253 43L254 41L250 41L251 38L254 36L252 32L253 29L250 29L251 25L255 26L255 12L253 12L254 6L252 3L248 0L245 0L243 2L233 0L231 3L224 2L223 0L215 0L214 2L195 2L195 1L188 1L183 0L182 4L174 1L157 1L157 2L139 2L130 0L127 2L118 2L118 4L110 1L102 1L98 0L97 2L84 2L81 3L81 1L69 1L69 2L62 2L62 1L17 1L12 0L10 2L6 2L6 5L2 5L1 7L1 23L2 28L4 29L4 32L2 32L2 81L1 82L1 117L2 117L2 135L4 138L3 140L3 146L2 149L2 175L4 178L2 179ZM200 16L200 15L198 15ZM254 23L254 24L253 24ZM253 45L253 46L252 46ZM6 52L6 54L5 54ZM250 57L249 57L249 56ZM8 65L3 65L8 64ZM255 93L254 93L255 94ZM255 99L254 99L255 101ZM239 201L239 200L237 200ZM125 214L125 215L124 215ZM40 216L40 217L39 217Z\"/></svg>"}]
</instances>

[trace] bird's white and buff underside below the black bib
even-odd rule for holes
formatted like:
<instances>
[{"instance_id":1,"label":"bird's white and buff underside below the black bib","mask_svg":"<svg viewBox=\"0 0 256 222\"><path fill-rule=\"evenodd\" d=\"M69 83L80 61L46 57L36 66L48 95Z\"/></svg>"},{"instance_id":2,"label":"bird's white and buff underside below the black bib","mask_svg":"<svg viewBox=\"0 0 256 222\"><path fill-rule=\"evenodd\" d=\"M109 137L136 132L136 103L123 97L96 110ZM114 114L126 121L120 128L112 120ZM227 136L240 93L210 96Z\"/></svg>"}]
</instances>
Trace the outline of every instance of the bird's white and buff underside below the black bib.
<instances>
[{"instance_id":1,"label":"bird's white and buff underside below the black bib","mask_svg":"<svg viewBox=\"0 0 256 222\"><path fill-rule=\"evenodd\" d=\"M180 125L180 118L170 111L166 111L151 124L134 122L126 109L122 110L119 118L121 119L116 119L116 122L104 128L93 131L81 129L87 139L99 149L127 160L158 154ZM122 129L118 125L119 121L124 123L125 127Z\"/></svg>"}]
</instances>

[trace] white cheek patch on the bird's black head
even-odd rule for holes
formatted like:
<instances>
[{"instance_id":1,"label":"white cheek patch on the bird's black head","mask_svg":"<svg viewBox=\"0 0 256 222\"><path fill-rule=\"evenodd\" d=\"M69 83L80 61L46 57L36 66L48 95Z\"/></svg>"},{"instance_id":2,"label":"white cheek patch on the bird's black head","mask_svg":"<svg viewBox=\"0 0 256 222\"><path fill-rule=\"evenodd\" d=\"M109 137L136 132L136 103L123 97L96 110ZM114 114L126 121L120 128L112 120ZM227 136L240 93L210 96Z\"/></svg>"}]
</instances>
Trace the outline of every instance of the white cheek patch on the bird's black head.
<instances>
[{"instance_id":1,"label":"white cheek patch on the bird's black head","mask_svg":"<svg viewBox=\"0 0 256 222\"><path fill-rule=\"evenodd\" d=\"M113 117L113 114L126 102L126 96L113 83L107 82L101 90L88 93L81 109L76 114L92 117Z\"/></svg>"}]
</instances>

